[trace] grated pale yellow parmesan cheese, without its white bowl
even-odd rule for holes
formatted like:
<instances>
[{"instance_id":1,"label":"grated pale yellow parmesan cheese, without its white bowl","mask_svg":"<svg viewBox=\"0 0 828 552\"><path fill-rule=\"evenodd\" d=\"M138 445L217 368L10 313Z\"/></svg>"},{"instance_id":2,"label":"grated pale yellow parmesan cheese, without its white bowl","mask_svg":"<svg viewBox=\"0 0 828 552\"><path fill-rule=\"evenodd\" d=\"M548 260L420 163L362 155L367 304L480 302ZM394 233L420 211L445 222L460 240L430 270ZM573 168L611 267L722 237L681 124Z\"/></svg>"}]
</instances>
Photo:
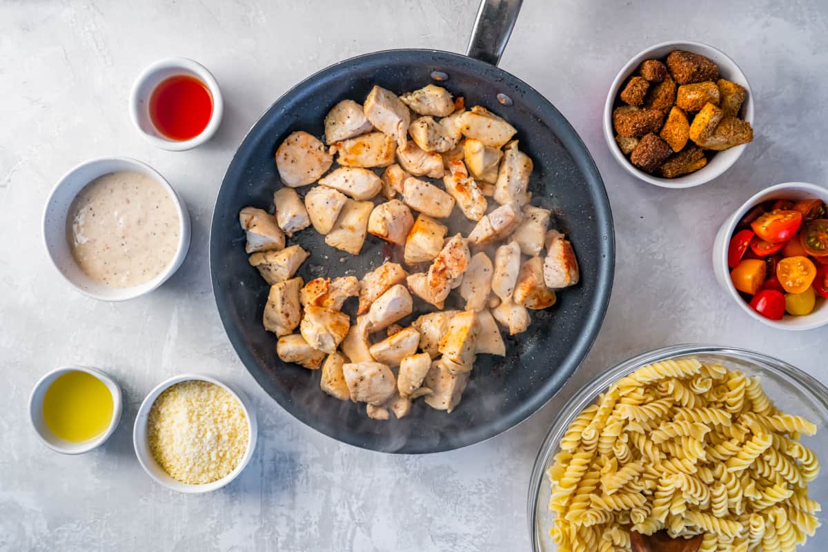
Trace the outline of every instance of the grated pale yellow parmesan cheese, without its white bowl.
<instances>
[{"instance_id":1,"label":"grated pale yellow parmesan cheese, without its white bowl","mask_svg":"<svg viewBox=\"0 0 828 552\"><path fill-rule=\"evenodd\" d=\"M232 472L250 435L238 399L214 383L190 381L169 387L152 403L147 438L171 478L195 485Z\"/></svg>"}]
</instances>

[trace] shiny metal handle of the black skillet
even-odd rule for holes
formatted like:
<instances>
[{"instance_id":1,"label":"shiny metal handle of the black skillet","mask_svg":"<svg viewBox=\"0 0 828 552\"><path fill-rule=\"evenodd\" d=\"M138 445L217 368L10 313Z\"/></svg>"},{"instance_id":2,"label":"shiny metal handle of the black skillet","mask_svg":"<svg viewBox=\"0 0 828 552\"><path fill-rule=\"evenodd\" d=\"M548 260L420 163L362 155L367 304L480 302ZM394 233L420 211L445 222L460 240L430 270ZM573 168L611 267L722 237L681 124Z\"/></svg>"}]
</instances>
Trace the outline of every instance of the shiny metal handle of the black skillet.
<instances>
[{"instance_id":1,"label":"shiny metal handle of the black skillet","mask_svg":"<svg viewBox=\"0 0 828 552\"><path fill-rule=\"evenodd\" d=\"M498 65L523 0L480 0L466 55Z\"/></svg>"}]
</instances>

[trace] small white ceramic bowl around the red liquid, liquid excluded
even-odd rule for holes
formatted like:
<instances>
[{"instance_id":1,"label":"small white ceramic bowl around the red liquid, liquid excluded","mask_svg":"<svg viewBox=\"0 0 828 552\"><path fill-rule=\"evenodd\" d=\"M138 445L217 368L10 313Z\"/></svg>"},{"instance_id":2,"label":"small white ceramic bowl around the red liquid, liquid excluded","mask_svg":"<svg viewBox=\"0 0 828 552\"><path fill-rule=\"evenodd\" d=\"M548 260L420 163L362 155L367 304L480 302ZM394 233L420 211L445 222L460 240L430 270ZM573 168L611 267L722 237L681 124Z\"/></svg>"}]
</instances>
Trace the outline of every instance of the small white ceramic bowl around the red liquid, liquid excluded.
<instances>
[{"instance_id":1,"label":"small white ceramic bowl around the red liquid, liquid excluded","mask_svg":"<svg viewBox=\"0 0 828 552\"><path fill-rule=\"evenodd\" d=\"M164 136L152 124L149 113L152 91L156 89L161 81L179 74L199 79L207 86L210 95L213 97L213 114L210 116L207 126L198 136L190 138L190 140L171 140ZM200 146L213 137L224 114L224 100L221 97L219 83L216 82L213 74L204 65L183 57L167 58L149 65L138 75L135 84L132 85L132 94L129 96L129 113L132 117L132 123L141 133L141 136L147 139L147 142L164 150L185 151Z\"/></svg>"}]
</instances>

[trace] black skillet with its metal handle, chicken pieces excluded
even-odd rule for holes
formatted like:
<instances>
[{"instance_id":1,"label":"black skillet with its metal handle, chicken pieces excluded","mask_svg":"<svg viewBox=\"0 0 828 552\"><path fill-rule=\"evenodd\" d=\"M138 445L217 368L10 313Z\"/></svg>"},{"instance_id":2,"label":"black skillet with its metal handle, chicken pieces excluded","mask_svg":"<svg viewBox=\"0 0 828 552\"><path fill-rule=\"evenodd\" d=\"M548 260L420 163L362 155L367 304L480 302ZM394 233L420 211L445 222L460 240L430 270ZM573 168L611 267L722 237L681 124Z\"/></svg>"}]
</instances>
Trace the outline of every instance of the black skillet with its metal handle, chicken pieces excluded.
<instances>
[{"instance_id":1,"label":"black skillet with its metal handle, chicken pieces excluded","mask_svg":"<svg viewBox=\"0 0 828 552\"><path fill-rule=\"evenodd\" d=\"M495 65L520 4L520 0L484 0L469 55L388 50L342 61L310 76L259 119L224 175L209 248L224 329L265 391L303 423L334 439L403 454L458 449L489 439L546 404L585 358L598 334L614 271L609 201L590 152L569 122L541 94ZM505 358L479 356L463 401L451 414L415 401L411 414L402 420L370 420L365 405L339 401L320 391L320 371L286 364L277 357L277 338L262 328L268 287L248 264L238 211L247 205L272 209L272 194L281 186L273 156L290 132L304 130L321 137L330 108L344 98L362 103L373 84L401 94L442 76L447 79L437 84L464 96L467 106L483 105L517 128L521 150L535 164L532 203L553 209L553 224L566 232L575 247L581 281L561 292L551 309L532 311L527 332L507 338ZM308 189L299 191L304 194ZM450 227L467 235L471 225L455 209ZM305 281L318 276L361 277L389 254L383 242L370 235L359 257L328 247L312 228L297 234L293 242L311 252L299 271ZM414 315L426 310L416 305Z\"/></svg>"}]
</instances>

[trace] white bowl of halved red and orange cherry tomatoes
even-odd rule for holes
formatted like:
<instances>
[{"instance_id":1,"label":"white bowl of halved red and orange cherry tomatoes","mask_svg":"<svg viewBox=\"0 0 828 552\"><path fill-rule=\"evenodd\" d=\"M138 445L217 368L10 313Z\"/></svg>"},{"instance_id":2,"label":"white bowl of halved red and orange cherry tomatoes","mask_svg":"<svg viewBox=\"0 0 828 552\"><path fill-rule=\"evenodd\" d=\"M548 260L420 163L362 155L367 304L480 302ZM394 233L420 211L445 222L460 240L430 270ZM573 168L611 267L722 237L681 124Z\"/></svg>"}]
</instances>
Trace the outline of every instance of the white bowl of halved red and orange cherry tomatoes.
<instances>
[{"instance_id":1,"label":"white bowl of halved red and orange cherry tomatoes","mask_svg":"<svg viewBox=\"0 0 828 552\"><path fill-rule=\"evenodd\" d=\"M713 266L724 290L764 324L828 324L828 190L788 182L754 195L722 224Z\"/></svg>"}]
</instances>

